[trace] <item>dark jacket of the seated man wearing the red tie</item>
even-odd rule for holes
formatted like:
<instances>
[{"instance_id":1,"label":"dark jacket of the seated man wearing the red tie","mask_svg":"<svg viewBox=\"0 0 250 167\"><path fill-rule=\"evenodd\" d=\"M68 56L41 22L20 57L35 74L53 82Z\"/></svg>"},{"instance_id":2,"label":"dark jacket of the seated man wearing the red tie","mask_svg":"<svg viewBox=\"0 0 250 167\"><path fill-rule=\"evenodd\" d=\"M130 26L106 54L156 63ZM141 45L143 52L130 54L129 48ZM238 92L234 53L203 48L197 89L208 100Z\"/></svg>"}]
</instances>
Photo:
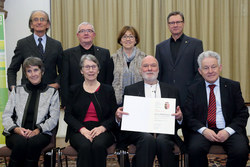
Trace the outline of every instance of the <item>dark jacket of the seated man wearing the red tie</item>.
<instances>
[{"instance_id":1,"label":"dark jacket of the seated man wearing the red tie","mask_svg":"<svg viewBox=\"0 0 250 167\"><path fill-rule=\"evenodd\" d=\"M246 135L249 114L248 108L244 104L239 82L220 77L220 94L226 127L231 127L236 133ZM203 79L188 89L183 113L189 131L196 132L206 126L207 111L207 93Z\"/></svg>"}]
</instances>

